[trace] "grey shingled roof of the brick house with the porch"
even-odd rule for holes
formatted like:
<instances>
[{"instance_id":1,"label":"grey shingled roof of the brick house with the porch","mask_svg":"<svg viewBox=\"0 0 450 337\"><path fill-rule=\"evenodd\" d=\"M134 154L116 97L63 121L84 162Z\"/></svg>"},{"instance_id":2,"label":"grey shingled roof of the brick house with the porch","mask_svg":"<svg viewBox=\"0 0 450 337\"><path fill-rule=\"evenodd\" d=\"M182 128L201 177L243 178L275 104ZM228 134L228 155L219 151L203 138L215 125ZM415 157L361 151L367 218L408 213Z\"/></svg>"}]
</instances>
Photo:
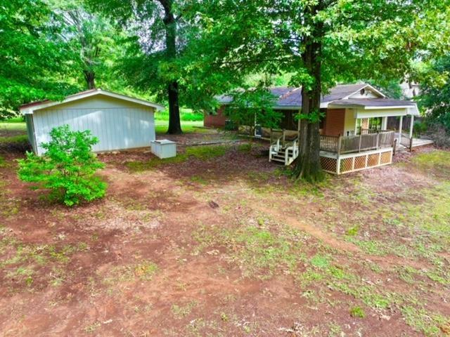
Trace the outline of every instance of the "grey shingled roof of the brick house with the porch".
<instances>
[{"instance_id":1,"label":"grey shingled roof of the brick house with the porch","mask_svg":"<svg viewBox=\"0 0 450 337\"><path fill-rule=\"evenodd\" d=\"M330 89L329 93L321 98L321 107L326 107L330 102L335 100L347 100L350 96L359 93L362 89L368 88L369 91L378 95L379 98L386 96L373 88L370 84L340 84ZM269 88L269 91L276 97L275 108L292 108L300 109L302 107L302 88L293 88L288 86L276 86ZM231 95L220 95L217 97L219 103L229 104L233 101Z\"/></svg>"}]
</instances>

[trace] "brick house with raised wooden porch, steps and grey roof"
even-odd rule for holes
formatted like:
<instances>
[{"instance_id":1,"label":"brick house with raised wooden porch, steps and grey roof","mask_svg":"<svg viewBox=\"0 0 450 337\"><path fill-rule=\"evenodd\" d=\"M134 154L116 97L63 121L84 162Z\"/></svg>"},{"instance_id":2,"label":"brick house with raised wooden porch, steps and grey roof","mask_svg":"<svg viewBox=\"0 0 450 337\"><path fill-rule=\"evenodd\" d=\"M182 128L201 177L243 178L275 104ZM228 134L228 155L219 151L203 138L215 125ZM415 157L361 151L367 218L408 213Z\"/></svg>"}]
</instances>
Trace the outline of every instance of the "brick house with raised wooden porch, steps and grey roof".
<instances>
[{"instance_id":1,"label":"brick house with raised wooden porch, steps and grey roof","mask_svg":"<svg viewBox=\"0 0 450 337\"><path fill-rule=\"evenodd\" d=\"M278 129L264 128L255 120L255 136L270 139L269 161L289 165L298 156L300 122L296 115L302 109L302 89L274 87L270 91L275 97L274 110L283 118ZM225 125L232 98L221 95L218 100L220 107L216 114L205 115L205 126ZM321 112L324 171L341 174L391 164L395 147L411 150L418 145L413 140L414 117L419 115L416 103L387 98L369 84L335 86L323 95ZM404 118L410 121L407 133L402 129ZM388 119L395 119L398 128L387 130Z\"/></svg>"}]
</instances>

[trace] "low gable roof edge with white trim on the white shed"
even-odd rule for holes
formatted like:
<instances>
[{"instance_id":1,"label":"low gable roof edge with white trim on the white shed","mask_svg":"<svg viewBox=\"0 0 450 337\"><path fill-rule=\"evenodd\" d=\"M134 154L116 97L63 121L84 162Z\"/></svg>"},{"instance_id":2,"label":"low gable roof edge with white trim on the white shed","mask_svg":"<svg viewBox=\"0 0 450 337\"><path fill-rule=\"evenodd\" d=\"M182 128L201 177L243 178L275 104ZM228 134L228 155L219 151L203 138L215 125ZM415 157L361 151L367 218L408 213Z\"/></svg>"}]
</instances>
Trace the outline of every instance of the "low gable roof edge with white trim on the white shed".
<instances>
[{"instance_id":1,"label":"low gable roof edge with white trim on the white shed","mask_svg":"<svg viewBox=\"0 0 450 337\"><path fill-rule=\"evenodd\" d=\"M129 97L127 95L122 95L120 93L113 93L112 91L105 91L105 90L98 88L98 89L81 91L79 93L69 95L60 102L55 102L52 100L41 100L39 102L28 103L28 104L20 106L20 112L22 114L32 114L35 110L41 110L46 107L54 107L56 105L74 102L76 100L82 100L84 98L89 98L89 97L93 97L96 95L108 96L111 98L116 98L118 100L124 100L124 101L135 103L138 105L143 105L146 107L153 107L158 111L165 109L165 107L163 107L162 105L156 104L156 103L148 102L146 100L140 100L139 98Z\"/></svg>"}]
</instances>

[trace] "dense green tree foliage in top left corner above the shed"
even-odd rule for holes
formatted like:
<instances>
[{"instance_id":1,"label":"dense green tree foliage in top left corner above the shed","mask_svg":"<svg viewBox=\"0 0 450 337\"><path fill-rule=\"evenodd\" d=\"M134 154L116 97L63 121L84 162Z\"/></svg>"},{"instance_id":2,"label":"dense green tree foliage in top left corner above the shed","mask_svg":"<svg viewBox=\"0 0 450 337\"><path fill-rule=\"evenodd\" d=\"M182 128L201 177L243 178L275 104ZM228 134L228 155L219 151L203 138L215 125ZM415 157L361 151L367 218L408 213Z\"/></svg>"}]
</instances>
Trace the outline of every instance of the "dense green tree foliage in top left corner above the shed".
<instances>
[{"instance_id":1,"label":"dense green tree foliage in top left corner above the shed","mask_svg":"<svg viewBox=\"0 0 450 337\"><path fill-rule=\"evenodd\" d=\"M50 25L53 13L41 0L0 5L0 118L23 103L60 99L77 91L63 74L68 55Z\"/></svg>"}]
</instances>

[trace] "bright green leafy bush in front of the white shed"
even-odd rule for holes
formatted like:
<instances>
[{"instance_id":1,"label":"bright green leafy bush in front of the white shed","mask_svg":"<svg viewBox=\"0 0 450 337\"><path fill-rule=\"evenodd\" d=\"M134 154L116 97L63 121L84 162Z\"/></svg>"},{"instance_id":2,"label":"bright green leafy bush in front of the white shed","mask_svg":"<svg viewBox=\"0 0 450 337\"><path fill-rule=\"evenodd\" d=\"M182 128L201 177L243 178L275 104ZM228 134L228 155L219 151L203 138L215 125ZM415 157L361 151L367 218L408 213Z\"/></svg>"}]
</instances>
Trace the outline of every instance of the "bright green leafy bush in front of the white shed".
<instances>
[{"instance_id":1,"label":"bright green leafy bush in front of the white shed","mask_svg":"<svg viewBox=\"0 0 450 337\"><path fill-rule=\"evenodd\" d=\"M42 144L42 157L27 152L27 158L19 160L19 178L35 183L33 189L50 190L52 198L68 206L103 197L107 185L95 173L104 165L91 152L98 139L90 131L70 131L67 125L53 128L50 136L51 141Z\"/></svg>"}]
</instances>

